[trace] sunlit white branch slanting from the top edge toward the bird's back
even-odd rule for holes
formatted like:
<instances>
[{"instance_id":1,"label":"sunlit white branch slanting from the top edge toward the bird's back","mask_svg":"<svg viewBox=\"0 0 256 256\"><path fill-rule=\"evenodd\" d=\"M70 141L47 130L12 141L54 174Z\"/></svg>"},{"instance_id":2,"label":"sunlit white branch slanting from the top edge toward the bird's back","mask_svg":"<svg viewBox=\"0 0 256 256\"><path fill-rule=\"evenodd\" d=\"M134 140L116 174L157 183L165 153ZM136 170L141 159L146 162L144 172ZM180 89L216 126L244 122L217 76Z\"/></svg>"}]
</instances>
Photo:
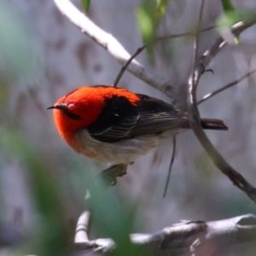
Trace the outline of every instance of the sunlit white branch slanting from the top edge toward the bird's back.
<instances>
[{"instance_id":1,"label":"sunlit white branch slanting from the top edge toward the bird's back","mask_svg":"<svg viewBox=\"0 0 256 256\"><path fill-rule=\"evenodd\" d=\"M54 2L63 15L67 16L84 34L101 45L104 49L107 49L122 66L131 58L131 55L116 38L104 32L99 26L96 26L96 24L80 12L69 0L54 0ZM164 79L157 74L149 72L138 61L131 61L127 70L137 76L137 78L142 79L154 88L166 93L167 96L173 97L175 95L175 87L168 79Z\"/></svg>"}]
</instances>

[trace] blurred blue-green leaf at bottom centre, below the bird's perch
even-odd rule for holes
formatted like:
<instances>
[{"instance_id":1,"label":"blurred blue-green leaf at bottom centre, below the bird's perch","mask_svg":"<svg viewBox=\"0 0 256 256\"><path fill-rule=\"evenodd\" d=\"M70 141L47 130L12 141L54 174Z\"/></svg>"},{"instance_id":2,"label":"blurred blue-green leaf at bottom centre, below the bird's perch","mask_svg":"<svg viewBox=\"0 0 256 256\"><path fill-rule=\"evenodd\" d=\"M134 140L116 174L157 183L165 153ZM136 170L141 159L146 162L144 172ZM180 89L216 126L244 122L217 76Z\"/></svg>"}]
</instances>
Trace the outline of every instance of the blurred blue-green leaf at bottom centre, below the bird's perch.
<instances>
[{"instance_id":1,"label":"blurred blue-green leaf at bottom centre, below the bird's perch","mask_svg":"<svg viewBox=\"0 0 256 256\"><path fill-rule=\"evenodd\" d=\"M97 177L96 184L88 183L91 178L86 180L90 190L88 204L90 211L94 213L96 229L101 230L101 237L110 237L115 241L117 247L114 255L148 255L148 253L142 252L142 249L131 244L130 234L136 209L131 211L129 207L125 207L113 189L108 189L108 191L103 189L105 186L99 177Z\"/></svg>"}]
</instances>

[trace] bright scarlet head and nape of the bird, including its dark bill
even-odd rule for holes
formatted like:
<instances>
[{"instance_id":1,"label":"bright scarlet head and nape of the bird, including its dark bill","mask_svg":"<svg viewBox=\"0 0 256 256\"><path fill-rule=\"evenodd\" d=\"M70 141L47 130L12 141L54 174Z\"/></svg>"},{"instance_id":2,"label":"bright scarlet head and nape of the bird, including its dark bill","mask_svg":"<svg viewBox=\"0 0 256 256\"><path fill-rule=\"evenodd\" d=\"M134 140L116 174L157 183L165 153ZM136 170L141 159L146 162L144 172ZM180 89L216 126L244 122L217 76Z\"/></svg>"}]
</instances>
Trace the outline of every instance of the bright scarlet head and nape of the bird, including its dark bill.
<instances>
[{"instance_id":1,"label":"bright scarlet head and nape of the bird, including its dark bill","mask_svg":"<svg viewBox=\"0 0 256 256\"><path fill-rule=\"evenodd\" d=\"M54 108L57 130L67 143L73 147L74 133L92 124L105 106L105 99L113 96L125 96L136 105L139 97L125 89L113 86L80 87L62 96Z\"/></svg>"}]
</instances>

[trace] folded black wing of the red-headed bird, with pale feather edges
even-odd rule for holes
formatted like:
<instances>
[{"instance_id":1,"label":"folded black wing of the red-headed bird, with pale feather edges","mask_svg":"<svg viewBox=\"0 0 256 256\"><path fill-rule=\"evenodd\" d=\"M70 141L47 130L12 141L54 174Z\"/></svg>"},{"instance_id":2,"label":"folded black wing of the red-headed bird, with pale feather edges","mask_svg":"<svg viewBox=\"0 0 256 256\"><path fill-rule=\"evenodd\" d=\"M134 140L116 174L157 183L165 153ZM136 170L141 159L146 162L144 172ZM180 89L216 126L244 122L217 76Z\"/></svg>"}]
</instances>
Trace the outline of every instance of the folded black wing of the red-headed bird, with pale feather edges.
<instances>
[{"instance_id":1,"label":"folded black wing of the red-headed bird, with pale feather edges","mask_svg":"<svg viewBox=\"0 0 256 256\"><path fill-rule=\"evenodd\" d=\"M139 135L166 131L186 125L187 116L159 99L140 95L133 106L125 97L106 99L104 111L87 131L90 136L106 143L115 143Z\"/></svg>"}]
</instances>

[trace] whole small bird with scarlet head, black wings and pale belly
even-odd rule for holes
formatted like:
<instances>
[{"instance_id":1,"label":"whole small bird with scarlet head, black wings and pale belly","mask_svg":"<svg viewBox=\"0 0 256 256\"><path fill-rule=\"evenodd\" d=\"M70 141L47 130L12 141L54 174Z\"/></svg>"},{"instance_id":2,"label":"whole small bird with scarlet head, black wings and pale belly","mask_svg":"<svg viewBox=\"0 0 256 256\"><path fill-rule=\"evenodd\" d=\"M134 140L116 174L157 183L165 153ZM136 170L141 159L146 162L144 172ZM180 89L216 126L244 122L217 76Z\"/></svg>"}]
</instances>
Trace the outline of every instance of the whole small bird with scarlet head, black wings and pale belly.
<instances>
[{"instance_id":1,"label":"whole small bird with scarlet head, black wings and pale belly","mask_svg":"<svg viewBox=\"0 0 256 256\"><path fill-rule=\"evenodd\" d=\"M76 152L113 165L131 164L190 129L187 113L172 104L107 85L80 87L47 109L54 109L57 130ZM201 119L201 126L229 130L219 119Z\"/></svg>"}]
</instances>

